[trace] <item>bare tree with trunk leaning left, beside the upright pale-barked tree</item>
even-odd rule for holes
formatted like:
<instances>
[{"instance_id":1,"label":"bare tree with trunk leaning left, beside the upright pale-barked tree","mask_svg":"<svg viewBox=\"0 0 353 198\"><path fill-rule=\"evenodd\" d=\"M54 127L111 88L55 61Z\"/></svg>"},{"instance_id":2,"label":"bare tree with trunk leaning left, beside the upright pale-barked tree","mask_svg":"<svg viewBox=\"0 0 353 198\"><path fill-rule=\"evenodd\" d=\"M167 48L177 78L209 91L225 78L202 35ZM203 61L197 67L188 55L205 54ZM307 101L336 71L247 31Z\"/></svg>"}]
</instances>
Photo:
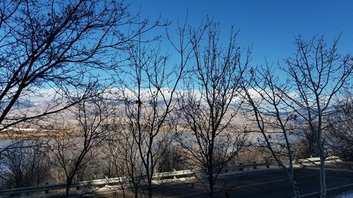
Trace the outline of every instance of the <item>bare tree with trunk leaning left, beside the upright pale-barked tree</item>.
<instances>
[{"instance_id":1,"label":"bare tree with trunk leaning left, beside the upright pale-barked tree","mask_svg":"<svg viewBox=\"0 0 353 198\"><path fill-rule=\"evenodd\" d=\"M300 197L299 185L296 179L294 162L294 133L297 130L295 120L297 117L288 111L285 104L284 91L287 85L280 85L274 70L265 68L249 70L249 79L244 81L244 108L246 118L256 125L253 132L260 132L259 146L265 146L272 154L275 161L287 172L292 182L294 196ZM281 89L278 89L281 87Z\"/></svg>"}]
</instances>

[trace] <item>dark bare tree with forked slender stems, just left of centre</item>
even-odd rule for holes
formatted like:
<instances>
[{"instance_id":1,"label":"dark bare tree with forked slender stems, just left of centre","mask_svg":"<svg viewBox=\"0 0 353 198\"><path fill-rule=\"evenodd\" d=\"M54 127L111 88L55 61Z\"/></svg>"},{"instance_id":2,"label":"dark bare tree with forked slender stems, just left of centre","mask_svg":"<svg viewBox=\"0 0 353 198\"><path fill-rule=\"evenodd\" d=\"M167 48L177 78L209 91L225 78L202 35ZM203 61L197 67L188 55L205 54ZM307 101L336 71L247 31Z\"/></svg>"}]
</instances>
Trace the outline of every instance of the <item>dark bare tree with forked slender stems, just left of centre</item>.
<instances>
[{"instance_id":1,"label":"dark bare tree with forked slender stems, just left of centre","mask_svg":"<svg viewBox=\"0 0 353 198\"><path fill-rule=\"evenodd\" d=\"M148 197L152 197L153 173L164 153L162 146L170 141L169 132L174 130L171 113L177 108L176 90L189 59L183 52L180 64L169 66L169 57L160 55L160 47L151 46L137 42L136 47L131 48L128 66L122 71L126 78L121 79L119 96L124 101L124 130L132 137L129 145L138 150ZM179 51L184 49L181 40Z\"/></svg>"}]
</instances>

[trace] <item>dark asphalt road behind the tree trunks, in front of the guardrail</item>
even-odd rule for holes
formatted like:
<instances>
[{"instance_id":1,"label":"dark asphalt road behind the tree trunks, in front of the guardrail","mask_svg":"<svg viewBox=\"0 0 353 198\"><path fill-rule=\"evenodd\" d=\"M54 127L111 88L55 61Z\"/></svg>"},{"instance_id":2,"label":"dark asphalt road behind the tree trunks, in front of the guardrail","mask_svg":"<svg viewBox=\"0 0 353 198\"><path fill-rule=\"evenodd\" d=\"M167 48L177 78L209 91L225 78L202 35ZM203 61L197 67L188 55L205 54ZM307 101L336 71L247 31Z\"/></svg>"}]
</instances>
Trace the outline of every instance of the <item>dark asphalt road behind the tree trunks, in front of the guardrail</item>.
<instances>
[{"instance_id":1,"label":"dark asphalt road behind the tree trunks, in front of the guardrail","mask_svg":"<svg viewBox=\"0 0 353 198\"><path fill-rule=\"evenodd\" d=\"M326 171L328 197L334 194L353 190L353 171L328 168ZM297 180L303 197L319 197L319 170L318 168L304 168L297 170ZM218 197L293 197L291 183L283 170L250 173L246 175L229 176L220 178L217 187ZM121 192L100 192L87 197L121 197ZM201 182L180 183L174 185L162 185L154 190L155 197L208 197Z\"/></svg>"}]
</instances>

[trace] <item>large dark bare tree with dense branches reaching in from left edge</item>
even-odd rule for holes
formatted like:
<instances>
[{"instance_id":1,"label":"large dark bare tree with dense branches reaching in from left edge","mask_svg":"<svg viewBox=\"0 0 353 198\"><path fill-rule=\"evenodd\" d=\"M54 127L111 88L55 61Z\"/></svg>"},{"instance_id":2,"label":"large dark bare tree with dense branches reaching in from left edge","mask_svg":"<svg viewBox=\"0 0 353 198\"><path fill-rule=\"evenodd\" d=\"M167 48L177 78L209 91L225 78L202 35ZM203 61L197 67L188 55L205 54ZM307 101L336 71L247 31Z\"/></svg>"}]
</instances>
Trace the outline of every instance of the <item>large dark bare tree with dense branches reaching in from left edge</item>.
<instances>
[{"instance_id":1,"label":"large dark bare tree with dense branches reaching in from left edge","mask_svg":"<svg viewBox=\"0 0 353 198\"><path fill-rule=\"evenodd\" d=\"M0 132L91 97L104 80L97 73L114 67L116 50L159 25L137 18L115 0L1 1ZM54 94L46 106L27 108L49 88ZM86 94L73 98L73 88Z\"/></svg>"}]
</instances>

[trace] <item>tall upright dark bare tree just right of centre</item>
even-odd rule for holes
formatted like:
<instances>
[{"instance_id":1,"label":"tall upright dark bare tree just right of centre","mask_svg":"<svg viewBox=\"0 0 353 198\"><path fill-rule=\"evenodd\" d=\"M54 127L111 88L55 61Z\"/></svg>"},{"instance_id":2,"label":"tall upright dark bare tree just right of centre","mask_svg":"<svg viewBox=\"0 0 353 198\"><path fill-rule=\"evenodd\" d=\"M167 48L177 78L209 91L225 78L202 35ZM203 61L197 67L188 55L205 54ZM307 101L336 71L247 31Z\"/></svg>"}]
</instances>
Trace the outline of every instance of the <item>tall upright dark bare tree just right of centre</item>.
<instances>
[{"instance_id":1,"label":"tall upright dark bare tree just right of centre","mask_svg":"<svg viewBox=\"0 0 353 198\"><path fill-rule=\"evenodd\" d=\"M241 63L237 33L232 27L226 47L219 43L216 23L207 22L189 34L195 66L190 79L184 81L186 91L179 102L184 120L179 141L188 150L194 165L205 170L208 182L205 187L210 197L215 196L215 183L222 168L246 144L246 134L232 123L240 105L239 80L249 61L247 56L246 63ZM190 131L193 136L186 142L184 134Z\"/></svg>"}]
</instances>

